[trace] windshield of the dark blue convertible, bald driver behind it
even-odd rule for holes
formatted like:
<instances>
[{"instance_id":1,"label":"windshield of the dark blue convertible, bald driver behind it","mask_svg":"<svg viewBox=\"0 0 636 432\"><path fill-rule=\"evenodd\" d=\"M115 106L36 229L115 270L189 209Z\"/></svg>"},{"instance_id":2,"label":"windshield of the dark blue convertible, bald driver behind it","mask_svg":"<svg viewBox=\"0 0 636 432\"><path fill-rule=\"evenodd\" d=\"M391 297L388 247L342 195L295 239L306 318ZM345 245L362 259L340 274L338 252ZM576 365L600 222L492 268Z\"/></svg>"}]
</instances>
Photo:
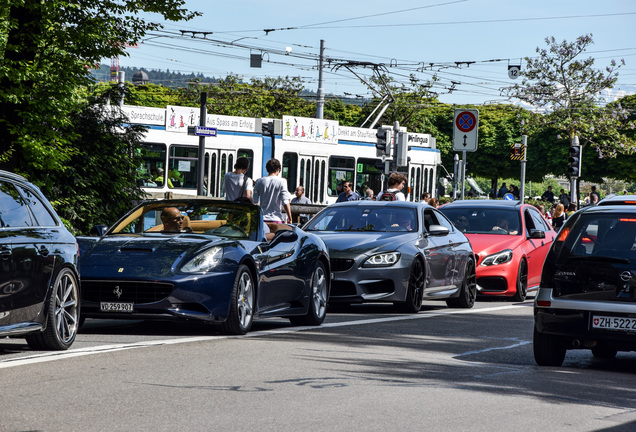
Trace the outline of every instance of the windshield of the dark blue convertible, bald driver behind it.
<instances>
[{"instance_id":1,"label":"windshield of the dark blue convertible, bald driver behind it","mask_svg":"<svg viewBox=\"0 0 636 432\"><path fill-rule=\"evenodd\" d=\"M230 201L150 201L119 221L109 234L208 234L255 240L257 206Z\"/></svg>"}]
</instances>

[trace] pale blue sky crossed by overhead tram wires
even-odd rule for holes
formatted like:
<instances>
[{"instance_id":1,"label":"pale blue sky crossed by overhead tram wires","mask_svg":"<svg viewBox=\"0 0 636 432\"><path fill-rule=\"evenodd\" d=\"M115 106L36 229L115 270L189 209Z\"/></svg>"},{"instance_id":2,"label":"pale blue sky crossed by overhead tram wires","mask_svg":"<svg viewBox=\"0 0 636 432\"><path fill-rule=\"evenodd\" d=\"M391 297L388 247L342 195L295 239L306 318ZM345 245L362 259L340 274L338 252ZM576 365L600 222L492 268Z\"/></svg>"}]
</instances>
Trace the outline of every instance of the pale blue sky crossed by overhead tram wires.
<instances>
[{"instance_id":1,"label":"pale blue sky crossed by overhead tram wires","mask_svg":"<svg viewBox=\"0 0 636 432\"><path fill-rule=\"evenodd\" d=\"M591 33L586 56L596 59L598 69L612 59L626 62L615 95L636 93L633 0L187 0L186 7L203 16L165 23L163 31L129 48L120 65L210 77L232 73L247 81L299 76L315 91L324 40L332 60L324 75L328 94L370 97L360 78L368 80L372 69L343 66L364 62L385 65L403 83L411 74L420 84L436 74L433 90L442 102L483 104L506 101L499 89L516 82L508 66L524 68L523 58L547 47L546 37L574 41ZM191 32L197 32L194 38ZM251 54L263 59L261 68L250 67Z\"/></svg>"}]
</instances>

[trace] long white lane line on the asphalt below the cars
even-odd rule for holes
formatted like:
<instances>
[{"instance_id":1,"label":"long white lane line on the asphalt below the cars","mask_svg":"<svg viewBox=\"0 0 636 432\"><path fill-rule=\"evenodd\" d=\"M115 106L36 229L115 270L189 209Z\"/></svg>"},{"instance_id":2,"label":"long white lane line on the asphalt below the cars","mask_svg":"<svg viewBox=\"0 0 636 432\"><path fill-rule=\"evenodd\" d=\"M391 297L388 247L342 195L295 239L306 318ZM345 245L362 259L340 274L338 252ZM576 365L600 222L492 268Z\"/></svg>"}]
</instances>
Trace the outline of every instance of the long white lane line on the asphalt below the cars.
<instances>
[{"instance_id":1,"label":"long white lane line on the asphalt below the cars","mask_svg":"<svg viewBox=\"0 0 636 432\"><path fill-rule=\"evenodd\" d=\"M502 311L507 309L514 309L522 305L523 303L515 304L515 305L507 305L507 306L490 307L490 308L484 308L484 309L446 310L446 311L437 311L437 312L414 314L414 315L401 315L401 316L393 316L393 317L385 317L385 318L373 318L373 319L345 321L345 322L338 322L338 323L326 323L326 324L322 324L320 327L291 327L291 328L286 327L281 329L251 332L245 336L198 336L198 337L164 339L164 340L146 341L146 342L135 342L135 343L129 343L129 344L100 345L95 347L70 349L67 351L56 351L52 353L35 354L28 357L2 360L0 361L0 369L49 362L54 360L63 360L63 359L73 358L73 357L82 357L82 356L93 355L93 354L123 351L127 349L147 348L147 347L159 346L159 345L175 345L175 344L181 344L181 343L203 342L203 341L212 341L212 340L237 338L237 337L239 338L260 337L260 336L269 336L269 335L276 335L276 334L295 333L295 332L305 331L305 330L320 330L321 328L347 327L347 326L353 326L353 325L376 324L376 323L385 323L385 322L392 322L392 321L435 318L439 316L455 315L455 314L474 314L474 313L483 313L483 312L492 312L492 311ZM460 355L463 355L463 354L460 354Z\"/></svg>"}]
</instances>

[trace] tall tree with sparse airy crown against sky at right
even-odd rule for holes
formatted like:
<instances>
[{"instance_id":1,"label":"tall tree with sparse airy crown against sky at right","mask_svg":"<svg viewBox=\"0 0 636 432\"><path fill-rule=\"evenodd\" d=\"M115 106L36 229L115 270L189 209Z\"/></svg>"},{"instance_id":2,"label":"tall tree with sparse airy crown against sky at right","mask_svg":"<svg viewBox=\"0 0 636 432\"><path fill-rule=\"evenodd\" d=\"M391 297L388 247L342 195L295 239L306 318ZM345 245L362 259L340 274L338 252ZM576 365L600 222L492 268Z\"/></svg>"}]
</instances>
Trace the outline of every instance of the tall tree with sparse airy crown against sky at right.
<instances>
[{"instance_id":1,"label":"tall tree with sparse airy crown against sky at right","mask_svg":"<svg viewBox=\"0 0 636 432\"><path fill-rule=\"evenodd\" d=\"M634 153L633 136L623 133L634 122L626 119L624 108L602 106L602 92L613 88L621 65L612 60L605 70L598 70L593 58L580 58L593 43L592 35L580 36L575 42L557 42L554 37L545 42L548 49L537 48L538 57L526 57L521 83L504 92L545 110L546 114L534 118L544 134L548 130L556 132L555 143L569 146L578 136L588 153L592 149L606 157ZM557 175L566 174L567 156L560 160L564 162L553 171ZM584 164L583 173L586 169Z\"/></svg>"}]
</instances>

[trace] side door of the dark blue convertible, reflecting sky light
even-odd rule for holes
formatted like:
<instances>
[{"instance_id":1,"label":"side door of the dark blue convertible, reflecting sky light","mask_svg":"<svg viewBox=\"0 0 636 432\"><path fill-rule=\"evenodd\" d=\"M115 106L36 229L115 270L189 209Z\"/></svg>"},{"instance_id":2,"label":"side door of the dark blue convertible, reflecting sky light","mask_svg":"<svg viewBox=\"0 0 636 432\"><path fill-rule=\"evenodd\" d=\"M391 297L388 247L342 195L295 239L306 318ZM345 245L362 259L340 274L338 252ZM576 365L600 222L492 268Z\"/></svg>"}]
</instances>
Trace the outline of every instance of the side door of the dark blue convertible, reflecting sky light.
<instances>
[{"instance_id":1,"label":"side door of the dark blue convertible, reflecting sky light","mask_svg":"<svg viewBox=\"0 0 636 432\"><path fill-rule=\"evenodd\" d=\"M298 268L298 234L295 230L278 230L261 249L261 278L258 308L261 313L287 308L303 294L305 281Z\"/></svg>"}]
</instances>

